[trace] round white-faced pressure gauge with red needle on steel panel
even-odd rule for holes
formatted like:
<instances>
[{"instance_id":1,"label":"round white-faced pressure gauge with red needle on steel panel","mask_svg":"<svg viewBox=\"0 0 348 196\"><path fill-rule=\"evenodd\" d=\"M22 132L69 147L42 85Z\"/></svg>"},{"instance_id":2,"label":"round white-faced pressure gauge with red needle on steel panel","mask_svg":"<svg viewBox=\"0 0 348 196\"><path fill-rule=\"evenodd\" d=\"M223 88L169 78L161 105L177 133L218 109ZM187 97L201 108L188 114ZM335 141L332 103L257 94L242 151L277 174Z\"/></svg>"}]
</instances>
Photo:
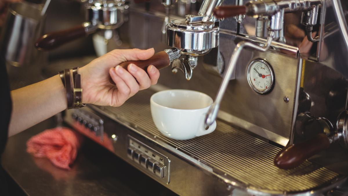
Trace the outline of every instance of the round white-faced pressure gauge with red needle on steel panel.
<instances>
[{"instance_id":1,"label":"round white-faced pressure gauge with red needle on steel panel","mask_svg":"<svg viewBox=\"0 0 348 196\"><path fill-rule=\"evenodd\" d=\"M253 60L247 69L250 87L257 93L269 92L274 85L274 72L269 63L263 59Z\"/></svg>"}]
</instances>

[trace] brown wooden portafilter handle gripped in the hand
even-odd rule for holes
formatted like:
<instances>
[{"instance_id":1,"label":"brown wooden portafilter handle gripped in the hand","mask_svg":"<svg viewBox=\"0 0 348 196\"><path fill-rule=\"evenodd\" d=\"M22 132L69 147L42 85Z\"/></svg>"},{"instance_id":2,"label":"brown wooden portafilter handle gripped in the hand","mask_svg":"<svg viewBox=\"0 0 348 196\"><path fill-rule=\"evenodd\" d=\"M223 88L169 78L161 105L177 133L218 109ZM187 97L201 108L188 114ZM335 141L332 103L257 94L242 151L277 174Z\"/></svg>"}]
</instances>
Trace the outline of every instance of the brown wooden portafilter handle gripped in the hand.
<instances>
[{"instance_id":1,"label":"brown wooden portafilter handle gripped in the hand","mask_svg":"<svg viewBox=\"0 0 348 196\"><path fill-rule=\"evenodd\" d=\"M150 65L155 66L157 69L163 69L165 67L168 67L171 62L169 60L168 54L164 51L161 51L161 52L155 53L152 57L150 57L147 60L126 61L126 62L122 62L119 66L121 66L127 70L128 65L131 63L144 69L147 72L147 68ZM115 84L111 78L110 78L110 82L112 84Z\"/></svg>"}]
</instances>

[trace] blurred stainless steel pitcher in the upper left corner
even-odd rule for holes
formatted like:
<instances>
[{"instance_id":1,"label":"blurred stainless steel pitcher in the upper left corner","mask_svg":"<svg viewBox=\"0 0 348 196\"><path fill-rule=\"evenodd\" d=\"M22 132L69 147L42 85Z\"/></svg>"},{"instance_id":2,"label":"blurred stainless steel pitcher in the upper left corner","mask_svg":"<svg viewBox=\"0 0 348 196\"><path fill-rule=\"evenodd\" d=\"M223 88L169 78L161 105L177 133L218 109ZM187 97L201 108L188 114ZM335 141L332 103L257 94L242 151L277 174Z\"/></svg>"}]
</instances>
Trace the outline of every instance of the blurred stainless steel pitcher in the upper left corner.
<instances>
[{"instance_id":1,"label":"blurred stainless steel pitcher in the upper left corner","mask_svg":"<svg viewBox=\"0 0 348 196\"><path fill-rule=\"evenodd\" d=\"M39 5L29 2L12 3L9 6L6 28L2 28L1 33L1 55L7 65L32 67L45 64L42 61L43 53L34 48L45 25L46 16L40 15L41 9Z\"/></svg>"}]
</instances>

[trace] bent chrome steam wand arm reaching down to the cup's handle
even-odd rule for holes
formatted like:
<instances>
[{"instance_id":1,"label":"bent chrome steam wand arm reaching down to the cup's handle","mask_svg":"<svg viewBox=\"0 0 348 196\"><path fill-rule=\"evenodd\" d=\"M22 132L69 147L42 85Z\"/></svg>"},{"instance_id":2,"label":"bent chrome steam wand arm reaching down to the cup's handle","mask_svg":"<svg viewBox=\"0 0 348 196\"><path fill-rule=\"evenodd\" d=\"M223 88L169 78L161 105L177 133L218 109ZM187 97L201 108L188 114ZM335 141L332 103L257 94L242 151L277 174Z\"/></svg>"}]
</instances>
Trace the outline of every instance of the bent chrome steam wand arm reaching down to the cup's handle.
<instances>
[{"instance_id":1,"label":"bent chrome steam wand arm reaching down to the cup's handle","mask_svg":"<svg viewBox=\"0 0 348 196\"><path fill-rule=\"evenodd\" d=\"M205 126L206 127L212 125L216 119L217 112L219 111L221 100L223 98L223 95L225 94L225 91L226 91L226 88L227 88L228 83L230 81L230 77L232 75L232 72L236 68L236 63L237 63L240 52L242 52L243 48L245 48L245 47L252 48L252 49L255 49L255 50L258 50L261 52L267 51L272 43L272 40L274 38L274 34L275 34L274 31L269 31L266 44L263 47L258 46L256 44L253 44L251 42L246 42L246 41L239 42L236 45L236 48L232 53L227 70L223 76L219 91L217 92L217 95L215 98L215 101L214 101L213 105L209 108L209 110L206 114L206 117L205 117Z\"/></svg>"}]
</instances>

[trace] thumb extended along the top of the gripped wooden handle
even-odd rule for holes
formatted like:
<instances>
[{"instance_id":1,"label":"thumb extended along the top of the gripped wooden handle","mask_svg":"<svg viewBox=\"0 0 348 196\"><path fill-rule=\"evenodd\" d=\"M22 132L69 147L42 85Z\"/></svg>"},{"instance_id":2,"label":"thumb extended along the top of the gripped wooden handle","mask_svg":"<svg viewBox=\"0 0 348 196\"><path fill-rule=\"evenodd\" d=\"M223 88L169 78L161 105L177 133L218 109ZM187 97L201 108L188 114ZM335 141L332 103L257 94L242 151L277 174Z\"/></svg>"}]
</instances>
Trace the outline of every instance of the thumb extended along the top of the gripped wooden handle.
<instances>
[{"instance_id":1,"label":"thumb extended along the top of the gripped wooden handle","mask_svg":"<svg viewBox=\"0 0 348 196\"><path fill-rule=\"evenodd\" d=\"M118 62L125 61L137 61L137 60L147 60L153 54L155 54L155 50L150 48L148 50L140 50L140 49L129 49L129 50L113 50L109 52L110 55L113 55L115 60Z\"/></svg>"}]
</instances>

